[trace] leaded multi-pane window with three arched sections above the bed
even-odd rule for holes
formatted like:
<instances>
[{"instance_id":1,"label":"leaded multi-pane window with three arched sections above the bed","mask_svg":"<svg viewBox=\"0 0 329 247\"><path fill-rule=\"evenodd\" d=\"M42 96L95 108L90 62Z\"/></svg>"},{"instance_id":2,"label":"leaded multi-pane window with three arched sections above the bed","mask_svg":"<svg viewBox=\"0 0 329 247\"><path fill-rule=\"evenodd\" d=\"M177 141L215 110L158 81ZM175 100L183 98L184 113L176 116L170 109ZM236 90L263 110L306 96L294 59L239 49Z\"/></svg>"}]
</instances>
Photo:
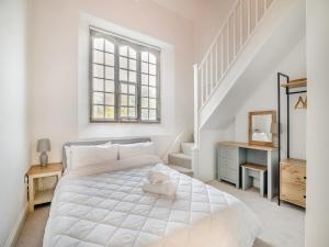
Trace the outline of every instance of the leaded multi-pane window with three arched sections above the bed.
<instances>
[{"instance_id":1,"label":"leaded multi-pane window with three arched sections above the bed","mask_svg":"<svg viewBox=\"0 0 329 247\"><path fill-rule=\"evenodd\" d=\"M90 121L160 122L160 52L90 30Z\"/></svg>"}]
</instances>

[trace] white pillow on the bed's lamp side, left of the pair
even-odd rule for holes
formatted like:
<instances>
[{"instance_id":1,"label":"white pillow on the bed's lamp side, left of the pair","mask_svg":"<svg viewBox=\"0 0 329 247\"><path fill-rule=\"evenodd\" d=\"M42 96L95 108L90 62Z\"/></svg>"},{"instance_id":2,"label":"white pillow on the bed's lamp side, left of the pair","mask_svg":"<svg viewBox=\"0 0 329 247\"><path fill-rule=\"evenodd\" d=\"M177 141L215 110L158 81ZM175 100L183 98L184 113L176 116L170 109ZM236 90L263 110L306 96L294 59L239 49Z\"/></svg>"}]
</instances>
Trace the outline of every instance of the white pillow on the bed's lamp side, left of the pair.
<instances>
[{"instance_id":1,"label":"white pillow on the bed's lamp side, left of the pair","mask_svg":"<svg viewBox=\"0 0 329 247\"><path fill-rule=\"evenodd\" d=\"M71 146L69 170L117 160L117 145Z\"/></svg>"}]
</instances>

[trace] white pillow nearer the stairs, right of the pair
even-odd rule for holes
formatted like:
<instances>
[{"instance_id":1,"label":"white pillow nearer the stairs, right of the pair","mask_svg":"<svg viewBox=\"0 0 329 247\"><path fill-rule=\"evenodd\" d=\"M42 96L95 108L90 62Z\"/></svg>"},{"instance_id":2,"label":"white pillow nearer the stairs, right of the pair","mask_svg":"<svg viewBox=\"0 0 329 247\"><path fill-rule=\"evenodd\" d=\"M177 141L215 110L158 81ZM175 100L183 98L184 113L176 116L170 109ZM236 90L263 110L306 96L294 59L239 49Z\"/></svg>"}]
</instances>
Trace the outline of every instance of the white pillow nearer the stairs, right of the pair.
<instances>
[{"instance_id":1,"label":"white pillow nearer the stairs, right of the pair","mask_svg":"<svg viewBox=\"0 0 329 247\"><path fill-rule=\"evenodd\" d=\"M127 159L140 155L155 155L155 144L151 142L118 145L120 159Z\"/></svg>"}]
</instances>

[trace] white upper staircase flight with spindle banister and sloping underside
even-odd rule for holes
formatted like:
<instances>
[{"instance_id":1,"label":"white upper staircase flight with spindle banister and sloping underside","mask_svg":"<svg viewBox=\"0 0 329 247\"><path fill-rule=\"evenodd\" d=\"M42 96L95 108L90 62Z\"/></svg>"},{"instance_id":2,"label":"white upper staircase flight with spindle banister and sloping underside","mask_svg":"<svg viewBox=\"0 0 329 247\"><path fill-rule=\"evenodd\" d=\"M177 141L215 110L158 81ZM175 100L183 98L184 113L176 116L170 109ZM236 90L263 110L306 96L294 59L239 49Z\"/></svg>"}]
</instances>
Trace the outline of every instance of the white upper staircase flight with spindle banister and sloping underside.
<instances>
[{"instance_id":1,"label":"white upper staircase flight with spindle banister and sloping underside","mask_svg":"<svg viewBox=\"0 0 329 247\"><path fill-rule=\"evenodd\" d=\"M302 38L303 4L304 0L237 0L203 59L194 65L195 177L209 180L215 173L215 137L208 130L227 127L261 77ZM211 138L213 147L207 145Z\"/></svg>"}]
</instances>

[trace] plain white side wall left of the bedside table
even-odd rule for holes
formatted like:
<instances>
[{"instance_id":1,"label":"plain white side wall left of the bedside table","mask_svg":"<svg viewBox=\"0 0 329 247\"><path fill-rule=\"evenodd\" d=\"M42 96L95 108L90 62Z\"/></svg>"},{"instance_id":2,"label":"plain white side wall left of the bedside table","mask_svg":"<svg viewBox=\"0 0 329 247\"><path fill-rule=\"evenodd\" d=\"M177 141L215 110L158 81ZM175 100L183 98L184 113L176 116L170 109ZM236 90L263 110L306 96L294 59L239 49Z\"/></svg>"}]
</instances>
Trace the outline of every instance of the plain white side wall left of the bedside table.
<instances>
[{"instance_id":1,"label":"plain white side wall left of the bedside table","mask_svg":"<svg viewBox=\"0 0 329 247\"><path fill-rule=\"evenodd\" d=\"M0 246L26 209L29 165L26 1L0 1Z\"/></svg>"}]
</instances>

